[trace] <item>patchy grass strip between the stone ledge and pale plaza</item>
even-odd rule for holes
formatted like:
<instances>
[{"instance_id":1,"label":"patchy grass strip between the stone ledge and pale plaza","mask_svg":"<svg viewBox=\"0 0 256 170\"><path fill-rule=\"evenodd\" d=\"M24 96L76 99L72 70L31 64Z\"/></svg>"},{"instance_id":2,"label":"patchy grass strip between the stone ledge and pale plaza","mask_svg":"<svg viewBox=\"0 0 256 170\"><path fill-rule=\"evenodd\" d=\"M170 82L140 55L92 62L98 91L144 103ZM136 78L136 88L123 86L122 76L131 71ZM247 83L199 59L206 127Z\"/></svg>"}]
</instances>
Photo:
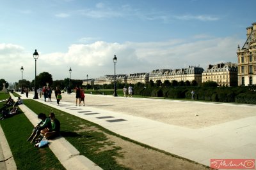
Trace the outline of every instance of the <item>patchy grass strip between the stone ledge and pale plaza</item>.
<instances>
[{"instance_id":1,"label":"patchy grass strip between the stone ledge and pale plaza","mask_svg":"<svg viewBox=\"0 0 256 170\"><path fill-rule=\"evenodd\" d=\"M122 157L118 152L120 148L106 137L106 133L113 132L31 99L24 100L24 104L37 114L48 115L53 111L61 122L61 136L75 146L81 155L88 157L102 169L128 169L116 163L115 157ZM110 149L106 150L106 146Z\"/></svg>"}]
</instances>

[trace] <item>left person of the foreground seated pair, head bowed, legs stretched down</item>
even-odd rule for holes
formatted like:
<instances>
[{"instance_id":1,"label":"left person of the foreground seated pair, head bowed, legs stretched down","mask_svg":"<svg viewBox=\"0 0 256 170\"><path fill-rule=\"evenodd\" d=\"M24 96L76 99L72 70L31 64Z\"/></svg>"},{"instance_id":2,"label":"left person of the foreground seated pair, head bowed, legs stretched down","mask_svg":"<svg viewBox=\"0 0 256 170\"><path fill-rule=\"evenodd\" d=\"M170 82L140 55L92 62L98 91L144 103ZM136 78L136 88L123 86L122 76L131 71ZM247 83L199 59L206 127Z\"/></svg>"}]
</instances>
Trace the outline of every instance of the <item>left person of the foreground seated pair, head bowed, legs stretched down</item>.
<instances>
[{"instance_id":1,"label":"left person of the foreground seated pair, head bowed, legs stretched down","mask_svg":"<svg viewBox=\"0 0 256 170\"><path fill-rule=\"evenodd\" d=\"M46 117L44 113L39 113L38 118L41 119L41 121L34 127L32 134L29 136L27 141L30 141L30 143L33 143L36 138L40 135L40 131L42 131L45 128L51 128L51 118Z\"/></svg>"}]
</instances>

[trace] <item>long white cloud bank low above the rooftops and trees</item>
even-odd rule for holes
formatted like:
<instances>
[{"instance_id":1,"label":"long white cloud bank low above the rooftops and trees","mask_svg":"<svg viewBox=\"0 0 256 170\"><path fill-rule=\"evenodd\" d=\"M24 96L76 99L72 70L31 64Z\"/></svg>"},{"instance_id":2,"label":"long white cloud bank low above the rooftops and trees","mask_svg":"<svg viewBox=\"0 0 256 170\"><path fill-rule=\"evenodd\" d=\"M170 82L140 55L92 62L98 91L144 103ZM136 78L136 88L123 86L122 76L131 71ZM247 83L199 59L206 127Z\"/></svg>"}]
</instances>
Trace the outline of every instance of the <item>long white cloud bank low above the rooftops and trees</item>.
<instances>
[{"instance_id":1,"label":"long white cloud bank low above the rooftops and trees","mask_svg":"<svg viewBox=\"0 0 256 170\"><path fill-rule=\"evenodd\" d=\"M227 37L200 41L173 39L123 44L97 41L70 45L67 52L40 53L38 50L37 73L47 71L54 80L63 80L69 77L68 69L72 67L74 79L85 79L86 74L89 78L97 78L113 74L114 55L118 59L117 74L148 73L153 69L180 69L198 65L206 69L208 64L237 62L237 42L243 40ZM3 60L1 66L4 70L0 78L7 81L20 80L20 67L23 66L24 78L33 80L35 60L32 53L25 52L21 46L0 44L0 59Z\"/></svg>"}]
</instances>

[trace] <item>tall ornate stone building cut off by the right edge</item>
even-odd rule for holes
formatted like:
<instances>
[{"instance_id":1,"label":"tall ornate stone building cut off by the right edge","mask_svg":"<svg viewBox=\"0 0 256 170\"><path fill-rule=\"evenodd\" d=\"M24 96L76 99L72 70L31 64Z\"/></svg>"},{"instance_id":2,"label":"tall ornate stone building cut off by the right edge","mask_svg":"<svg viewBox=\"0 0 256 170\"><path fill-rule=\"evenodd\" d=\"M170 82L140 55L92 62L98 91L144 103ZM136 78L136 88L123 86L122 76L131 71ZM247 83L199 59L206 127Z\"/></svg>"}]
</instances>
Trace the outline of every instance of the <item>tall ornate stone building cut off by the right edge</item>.
<instances>
[{"instance_id":1,"label":"tall ornate stone building cut off by the right edge","mask_svg":"<svg viewBox=\"0 0 256 170\"><path fill-rule=\"evenodd\" d=\"M256 85L256 22L247 27L247 40L237 49L238 85Z\"/></svg>"}]
</instances>

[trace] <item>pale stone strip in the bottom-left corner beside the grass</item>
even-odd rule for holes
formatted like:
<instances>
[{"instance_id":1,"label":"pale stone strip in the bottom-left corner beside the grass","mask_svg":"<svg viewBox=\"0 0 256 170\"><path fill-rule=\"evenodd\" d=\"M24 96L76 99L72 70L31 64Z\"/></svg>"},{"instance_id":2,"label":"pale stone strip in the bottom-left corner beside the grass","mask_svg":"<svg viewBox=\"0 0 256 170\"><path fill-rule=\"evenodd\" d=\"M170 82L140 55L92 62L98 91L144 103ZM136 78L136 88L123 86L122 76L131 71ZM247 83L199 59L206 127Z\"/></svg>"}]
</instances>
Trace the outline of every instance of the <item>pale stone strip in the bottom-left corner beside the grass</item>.
<instances>
[{"instance_id":1,"label":"pale stone strip in the bottom-left corner beside the grass","mask_svg":"<svg viewBox=\"0 0 256 170\"><path fill-rule=\"evenodd\" d=\"M3 151L3 156L0 154L0 161L3 161L3 162L0 162L0 169L4 169L6 168L7 170L10 169L10 170L14 170L14 169L17 169L17 166L15 164L15 161L13 159L13 155L12 155L12 152L11 152L11 149L10 149L10 146L8 145L8 141L6 140L5 138L5 135L4 135L4 132L3 132L3 129L0 125L0 149L2 149ZM1 151L0 151L1 153ZM2 160L2 157L3 157L3 160ZM5 166L4 166L5 164Z\"/></svg>"}]
</instances>

